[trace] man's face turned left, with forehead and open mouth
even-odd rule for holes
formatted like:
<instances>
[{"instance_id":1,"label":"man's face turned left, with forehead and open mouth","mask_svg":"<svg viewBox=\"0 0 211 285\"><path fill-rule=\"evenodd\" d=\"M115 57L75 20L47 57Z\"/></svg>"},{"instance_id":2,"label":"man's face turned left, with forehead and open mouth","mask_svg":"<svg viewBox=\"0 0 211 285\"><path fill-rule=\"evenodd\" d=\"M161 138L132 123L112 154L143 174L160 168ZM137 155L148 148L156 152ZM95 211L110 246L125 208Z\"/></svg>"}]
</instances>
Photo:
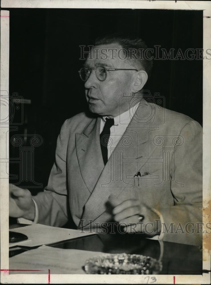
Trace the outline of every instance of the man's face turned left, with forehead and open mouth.
<instances>
[{"instance_id":1,"label":"man's face turned left, with forehead and open mouth","mask_svg":"<svg viewBox=\"0 0 211 285\"><path fill-rule=\"evenodd\" d=\"M98 54L96 54L96 49L98 49ZM124 58L123 52L120 53L121 58L118 58L117 52L112 54L107 49L119 50L121 46L107 44L93 47L90 56L88 56L85 62L85 66L93 68L102 65L106 68L134 69L127 61L121 59ZM123 96L123 93L131 92L132 75L134 73L135 71L133 70L108 71L106 80L100 81L96 77L94 70L92 70L88 80L85 82L85 93L89 110L102 116L116 117L119 115L120 97ZM126 105L125 111L127 109Z\"/></svg>"}]
</instances>

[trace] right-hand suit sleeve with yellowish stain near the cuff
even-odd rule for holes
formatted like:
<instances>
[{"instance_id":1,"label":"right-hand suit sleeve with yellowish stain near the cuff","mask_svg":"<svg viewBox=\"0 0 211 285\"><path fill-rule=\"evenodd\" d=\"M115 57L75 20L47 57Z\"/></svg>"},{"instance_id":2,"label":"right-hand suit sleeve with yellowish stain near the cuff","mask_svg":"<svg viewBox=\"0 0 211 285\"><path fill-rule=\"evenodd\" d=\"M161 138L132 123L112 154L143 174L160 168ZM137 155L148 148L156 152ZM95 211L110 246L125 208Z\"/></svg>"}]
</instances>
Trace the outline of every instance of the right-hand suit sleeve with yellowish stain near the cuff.
<instances>
[{"instance_id":1,"label":"right-hand suit sleeve with yellowish stain near the cuff","mask_svg":"<svg viewBox=\"0 0 211 285\"><path fill-rule=\"evenodd\" d=\"M159 209L166 226L161 229L161 235L164 241L198 245L202 239L199 229L202 223L202 127L191 120L184 125L180 136L184 143L176 147L171 179L174 177L183 186L171 187L174 205Z\"/></svg>"}]
</instances>

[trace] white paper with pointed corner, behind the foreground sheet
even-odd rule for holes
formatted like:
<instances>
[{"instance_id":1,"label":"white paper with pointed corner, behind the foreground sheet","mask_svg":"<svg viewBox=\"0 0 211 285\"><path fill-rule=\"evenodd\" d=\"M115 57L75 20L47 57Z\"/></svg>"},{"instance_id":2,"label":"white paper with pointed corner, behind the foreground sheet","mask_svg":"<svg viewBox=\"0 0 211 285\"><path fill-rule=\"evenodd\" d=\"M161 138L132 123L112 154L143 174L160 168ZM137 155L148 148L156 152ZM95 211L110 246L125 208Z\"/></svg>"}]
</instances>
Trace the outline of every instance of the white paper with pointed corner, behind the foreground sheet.
<instances>
[{"instance_id":1,"label":"white paper with pointed corner, behind the foreground sheet","mask_svg":"<svg viewBox=\"0 0 211 285\"><path fill-rule=\"evenodd\" d=\"M59 241L66 241L69 239L82 238L88 235L97 234L88 231L63 229L63 228L51 227L41 224L19 227L17 229L12 229L12 231L17 233L23 233L28 237L28 240L20 241L18 243L9 243L9 247L13 247L15 245L23 245L27 247L49 245L51 243L56 243Z\"/></svg>"}]
</instances>

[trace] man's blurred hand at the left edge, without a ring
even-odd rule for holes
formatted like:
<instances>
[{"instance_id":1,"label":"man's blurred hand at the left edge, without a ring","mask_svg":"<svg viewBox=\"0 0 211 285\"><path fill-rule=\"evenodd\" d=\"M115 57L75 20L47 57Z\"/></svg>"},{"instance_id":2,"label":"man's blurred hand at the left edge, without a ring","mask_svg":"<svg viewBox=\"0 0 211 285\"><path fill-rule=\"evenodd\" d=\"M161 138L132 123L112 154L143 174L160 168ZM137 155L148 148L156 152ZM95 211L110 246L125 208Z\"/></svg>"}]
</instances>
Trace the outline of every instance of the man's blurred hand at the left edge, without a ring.
<instances>
[{"instance_id":1,"label":"man's blurred hand at the left edge, without a ring","mask_svg":"<svg viewBox=\"0 0 211 285\"><path fill-rule=\"evenodd\" d=\"M28 189L9 184L9 216L35 219L35 204Z\"/></svg>"}]
</instances>

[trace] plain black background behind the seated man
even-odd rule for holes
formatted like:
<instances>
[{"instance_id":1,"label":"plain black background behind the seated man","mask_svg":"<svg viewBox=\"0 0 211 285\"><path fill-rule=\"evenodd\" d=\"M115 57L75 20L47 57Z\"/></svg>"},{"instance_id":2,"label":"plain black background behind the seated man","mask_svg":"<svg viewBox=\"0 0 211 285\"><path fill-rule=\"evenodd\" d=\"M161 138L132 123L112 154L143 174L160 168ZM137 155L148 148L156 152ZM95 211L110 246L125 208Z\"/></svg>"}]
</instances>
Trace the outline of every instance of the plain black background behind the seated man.
<instances>
[{"instance_id":1,"label":"plain black background behind the seated man","mask_svg":"<svg viewBox=\"0 0 211 285\"><path fill-rule=\"evenodd\" d=\"M8 10L8 9L7 9ZM35 147L35 182L47 184L54 162L56 139L65 119L86 110L84 84L78 70L83 61L79 45L92 45L102 34L126 32L140 36L149 48L203 48L202 11L132 9L9 9L9 93L24 103L24 124L14 134L38 134ZM202 125L202 60L155 60L145 89L165 97L168 109L184 113ZM17 112L16 112L17 113ZM18 115L13 119L13 124ZM18 120L18 119L17 119ZM26 139L24 146L29 145ZM10 146L10 158L19 147ZM10 174L20 166L10 163ZM10 179L17 183L18 179ZM22 181L32 194L41 191Z\"/></svg>"}]
</instances>

